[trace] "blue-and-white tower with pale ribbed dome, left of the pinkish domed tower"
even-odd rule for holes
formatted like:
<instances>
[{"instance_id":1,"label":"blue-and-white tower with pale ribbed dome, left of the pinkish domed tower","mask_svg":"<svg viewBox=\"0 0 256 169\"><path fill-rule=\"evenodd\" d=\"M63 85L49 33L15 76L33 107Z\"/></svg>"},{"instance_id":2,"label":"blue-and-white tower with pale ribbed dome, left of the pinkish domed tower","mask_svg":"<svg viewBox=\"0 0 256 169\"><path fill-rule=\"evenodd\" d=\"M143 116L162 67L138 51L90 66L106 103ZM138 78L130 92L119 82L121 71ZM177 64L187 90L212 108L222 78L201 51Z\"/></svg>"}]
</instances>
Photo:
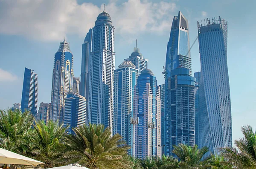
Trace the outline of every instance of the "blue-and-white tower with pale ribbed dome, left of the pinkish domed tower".
<instances>
[{"instance_id":1,"label":"blue-and-white tower with pale ribbed dome, left of the pinkish domed tower","mask_svg":"<svg viewBox=\"0 0 256 169\"><path fill-rule=\"evenodd\" d=\"M133 117L134 86L138 76L138 69L131 61L123 61L115 70L113 134L119 133L123 140L133 147ZM132 154L132 150L129 153Z\"/></svg>"}]
</instances>

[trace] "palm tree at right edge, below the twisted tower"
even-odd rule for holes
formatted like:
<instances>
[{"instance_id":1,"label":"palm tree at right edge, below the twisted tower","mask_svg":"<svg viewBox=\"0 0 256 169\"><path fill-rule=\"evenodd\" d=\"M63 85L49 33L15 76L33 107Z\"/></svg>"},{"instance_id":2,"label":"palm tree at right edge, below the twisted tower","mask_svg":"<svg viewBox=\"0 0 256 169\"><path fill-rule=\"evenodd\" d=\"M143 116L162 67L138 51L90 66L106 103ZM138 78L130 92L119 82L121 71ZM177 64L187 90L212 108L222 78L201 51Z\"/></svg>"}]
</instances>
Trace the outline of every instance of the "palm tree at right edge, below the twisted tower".
<instances>
[{"instance_id":1,"label":"palm tree at right edge, below the twisted tower","mask_svg":"<svg viewBox=\"0 0 256 169\"><path fill-rule=\"evenodd\" d=\"M237 147L224 147L220 151L227 162L237 169L256 168L256 133L251 126L243 126L244 138L235 140Z\"/></svg>"}]
</instances>

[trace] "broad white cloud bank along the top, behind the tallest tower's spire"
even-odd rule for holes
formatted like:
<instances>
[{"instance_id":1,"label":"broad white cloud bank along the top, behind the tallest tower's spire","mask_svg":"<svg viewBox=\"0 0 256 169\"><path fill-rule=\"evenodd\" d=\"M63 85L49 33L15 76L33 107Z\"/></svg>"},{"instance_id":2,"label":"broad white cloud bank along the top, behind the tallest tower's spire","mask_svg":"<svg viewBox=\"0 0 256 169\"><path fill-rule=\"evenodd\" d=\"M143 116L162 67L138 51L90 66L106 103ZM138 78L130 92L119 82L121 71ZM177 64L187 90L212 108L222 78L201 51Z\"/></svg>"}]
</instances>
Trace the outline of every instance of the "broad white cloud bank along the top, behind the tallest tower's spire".
<instances>
[{"instance_id":1,"label":"broad white cloud bank along the top, behind the tallest tower's spire","mask_svg":"<svg viewBox=\"0 0 256 169\"><path fill-rule=\"evenodd\" d=\"M64 34L85 36L102 12L93 3L76 0L2 0L0 33L23 35L38 40L60 40ZM111 0L105 7L117 34L160 33L169 30L175 3L128 0L121 5Z\"/></svg>"}]
</instances>

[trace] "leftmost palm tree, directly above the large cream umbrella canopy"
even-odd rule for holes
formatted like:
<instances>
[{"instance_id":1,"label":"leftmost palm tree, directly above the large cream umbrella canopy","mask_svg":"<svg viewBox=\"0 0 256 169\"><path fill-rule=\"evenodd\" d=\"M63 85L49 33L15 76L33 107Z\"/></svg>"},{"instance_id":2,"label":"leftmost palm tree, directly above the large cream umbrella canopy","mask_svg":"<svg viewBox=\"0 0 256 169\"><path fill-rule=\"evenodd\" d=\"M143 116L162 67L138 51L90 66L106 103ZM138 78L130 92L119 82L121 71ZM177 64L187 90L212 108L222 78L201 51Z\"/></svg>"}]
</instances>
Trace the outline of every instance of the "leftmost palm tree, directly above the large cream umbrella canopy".
<instances>
[{"instance_id":1,"label":"leftmost palm tree, directly above the large cream umbrella canopy","mask_svg":"<svg viewBox=\"0 0 256 169\"><path fill-rule=\"evenodd\" d=\"M24 144L34 117L29 111L12 109L0 110L0 147L12 152L26 154L29 151Z\"/></svg>"}]
</instances>

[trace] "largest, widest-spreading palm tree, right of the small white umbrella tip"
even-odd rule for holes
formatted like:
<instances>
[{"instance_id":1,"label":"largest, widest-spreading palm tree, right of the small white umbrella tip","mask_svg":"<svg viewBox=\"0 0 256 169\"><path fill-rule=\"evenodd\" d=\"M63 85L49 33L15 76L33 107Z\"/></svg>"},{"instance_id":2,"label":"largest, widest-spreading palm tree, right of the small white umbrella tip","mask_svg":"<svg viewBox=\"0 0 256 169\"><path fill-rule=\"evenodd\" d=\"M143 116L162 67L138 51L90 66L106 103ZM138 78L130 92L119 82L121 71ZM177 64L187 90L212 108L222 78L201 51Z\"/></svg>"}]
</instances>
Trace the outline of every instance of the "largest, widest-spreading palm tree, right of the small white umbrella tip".
<instances>
[{"instance_id":1,"label":"largest, widest-spreading palm tree, right of the small white umbrella tip","mask_svg":"<svg viewBox=\"0 0 256 169\"><path fill-rule=\"evenodd\" d=\"M111 136L111 129L104 125L89 124L74 128L75 135L67 135L67 151L63 161L79 163L90 169L131 169L127 158L130 147L119 134Z\"/></svg>"}]
</instances>

